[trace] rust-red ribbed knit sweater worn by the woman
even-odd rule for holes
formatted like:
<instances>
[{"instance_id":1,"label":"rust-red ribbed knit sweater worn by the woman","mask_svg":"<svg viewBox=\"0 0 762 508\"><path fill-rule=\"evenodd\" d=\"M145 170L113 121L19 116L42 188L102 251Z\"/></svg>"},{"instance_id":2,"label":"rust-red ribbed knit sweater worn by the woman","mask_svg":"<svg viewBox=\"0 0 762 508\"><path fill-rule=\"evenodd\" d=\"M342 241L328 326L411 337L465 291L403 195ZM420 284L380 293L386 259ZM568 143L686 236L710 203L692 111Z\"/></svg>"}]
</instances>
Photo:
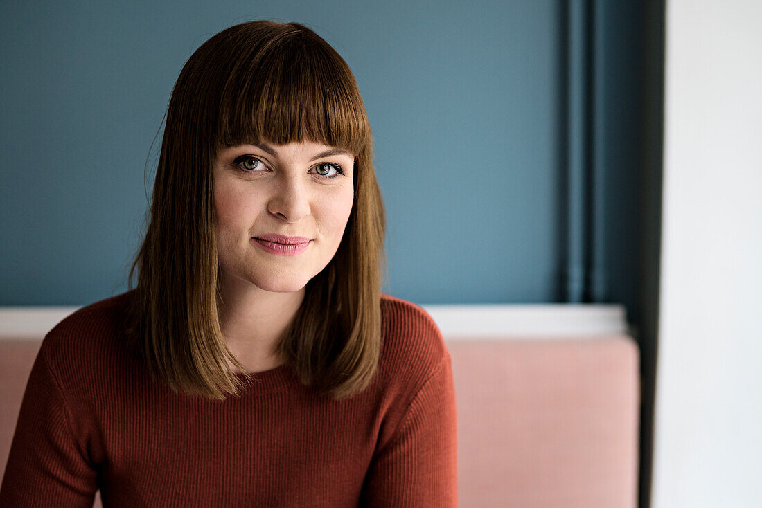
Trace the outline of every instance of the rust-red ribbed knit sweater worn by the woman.
<instances>
[{"instance_id":1,"label":"rust-red ribbed knit sweater worn by the woman","mask_svg":"<svg viewBox=\"0 0 762 508\"><path fill-rule=\"evenodd\" d=\"M379 372L344 401L287 366L240 398L175 395L120 332L131 292L69 315L43 340L0 506L456 506L450 354L418 305L382 295Z\"/></svg>"}]
</instances>

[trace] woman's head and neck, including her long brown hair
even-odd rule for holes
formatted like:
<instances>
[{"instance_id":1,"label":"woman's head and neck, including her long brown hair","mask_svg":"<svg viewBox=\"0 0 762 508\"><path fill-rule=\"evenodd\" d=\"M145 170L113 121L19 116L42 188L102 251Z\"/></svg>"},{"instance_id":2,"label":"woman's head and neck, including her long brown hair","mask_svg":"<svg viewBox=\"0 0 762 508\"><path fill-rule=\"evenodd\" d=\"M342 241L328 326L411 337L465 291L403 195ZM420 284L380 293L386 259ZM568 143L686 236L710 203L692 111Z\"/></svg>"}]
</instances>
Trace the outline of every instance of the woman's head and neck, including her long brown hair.
<instances>
[{"instance_id":1,"label":"woman's head and neck, including her long brown hair","mask_svg":"<svg viewBox=\"0 0 762 508\"><path fill-rule=\"evenodd\" d=\"M372 152L351 70L309 28L252 21L200 46L172 92L133 264L131 335L157 379L223 400L236 373L287 365L335 398L367 387L386 224ZM253 240L265 234L312 244L276 257Z\"/></svg>"}]
</instances>

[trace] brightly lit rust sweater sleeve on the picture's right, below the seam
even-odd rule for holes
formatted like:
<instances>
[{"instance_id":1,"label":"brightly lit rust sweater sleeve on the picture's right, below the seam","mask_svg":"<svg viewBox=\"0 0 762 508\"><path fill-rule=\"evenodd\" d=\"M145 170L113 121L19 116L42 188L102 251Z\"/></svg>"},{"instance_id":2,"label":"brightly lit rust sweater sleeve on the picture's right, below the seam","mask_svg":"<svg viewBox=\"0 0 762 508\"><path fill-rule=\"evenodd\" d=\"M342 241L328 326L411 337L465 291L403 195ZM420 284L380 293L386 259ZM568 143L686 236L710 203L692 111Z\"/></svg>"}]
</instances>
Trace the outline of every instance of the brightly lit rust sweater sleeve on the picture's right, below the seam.
<instances>
[{"instance_id":1,"label":"brightly lit rust sweater sleeve on the picture's right, below the seam","mask_svg":"<svg viewBox=\"0 0 762 508\"><path fill-rule=\"evenodd\" d=\"M456 405L449 354L408 405L371 461L360 506L457 506Z\"/></svg>"}]
</instances>

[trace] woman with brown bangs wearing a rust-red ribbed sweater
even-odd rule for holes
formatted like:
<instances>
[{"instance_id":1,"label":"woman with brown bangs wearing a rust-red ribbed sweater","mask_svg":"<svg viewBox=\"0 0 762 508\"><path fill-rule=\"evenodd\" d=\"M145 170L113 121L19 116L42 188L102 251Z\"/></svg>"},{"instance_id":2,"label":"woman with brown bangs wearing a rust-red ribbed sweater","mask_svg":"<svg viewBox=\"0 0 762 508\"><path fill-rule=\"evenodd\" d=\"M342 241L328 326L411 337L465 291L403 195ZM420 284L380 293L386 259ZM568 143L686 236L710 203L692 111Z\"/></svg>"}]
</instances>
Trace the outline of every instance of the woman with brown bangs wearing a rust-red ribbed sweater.
<instances>
[{"instance_id":1,"label":"woman with brown bangs wearing a rust-red ribbed sweater","mask_svg":"<svg viewBox=\"0 0 762 508\"><path fill-rule=\"evenodd\" d=\"M216 34L172 91L130 290L43 340L0 506L456 506L450 355L380 292L384 234L341 56L296 23Z\"/></svg>"}]
</instances>

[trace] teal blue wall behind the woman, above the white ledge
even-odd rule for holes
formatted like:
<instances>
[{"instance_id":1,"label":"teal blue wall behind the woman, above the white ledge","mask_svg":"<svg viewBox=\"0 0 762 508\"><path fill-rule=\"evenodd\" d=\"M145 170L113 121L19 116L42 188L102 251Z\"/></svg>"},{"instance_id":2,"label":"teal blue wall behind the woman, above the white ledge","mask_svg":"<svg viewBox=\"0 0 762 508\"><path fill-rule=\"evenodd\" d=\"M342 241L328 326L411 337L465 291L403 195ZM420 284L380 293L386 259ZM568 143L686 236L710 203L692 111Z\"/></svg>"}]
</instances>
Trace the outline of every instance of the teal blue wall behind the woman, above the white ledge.
<instances>
[{"instance_id":1,"label":"teal blue wall behind the woman, above the white ledge","mask_svg":"<svg viewBox=\"0 0 762 508\"><path fill-rule=\"evenodd\" d=\"M605 220L587 240L605 253L604 289L584 298L624 302L630 315L636 5L598 8L585 36L598 48L589 165L606 178L593 210ZM388 212L385 292L568 300L567 239L585 227L564 205L568 16L566 2L536 0L0 3L0 305L84 305L126 289L174 81L201 43L257 18L307 24L354 71Z\"/></svg>"}]
</instances>

